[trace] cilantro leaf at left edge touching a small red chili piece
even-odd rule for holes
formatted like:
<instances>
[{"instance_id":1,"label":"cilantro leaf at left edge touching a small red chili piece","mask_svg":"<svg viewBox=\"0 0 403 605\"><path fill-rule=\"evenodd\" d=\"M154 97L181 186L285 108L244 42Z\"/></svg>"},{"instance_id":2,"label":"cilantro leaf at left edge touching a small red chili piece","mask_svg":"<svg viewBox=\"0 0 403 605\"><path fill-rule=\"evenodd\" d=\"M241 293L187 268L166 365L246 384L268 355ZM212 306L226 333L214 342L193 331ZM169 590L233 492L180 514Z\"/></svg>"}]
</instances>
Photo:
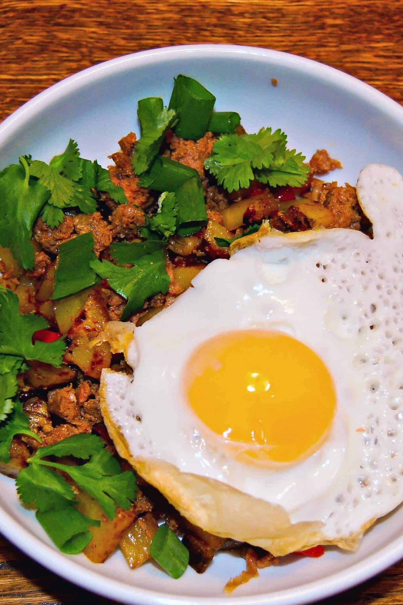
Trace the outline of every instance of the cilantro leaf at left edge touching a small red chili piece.
<instances>
[{"instance_id":1,"label":"cilantro leaf at left edge touching a small red chili piece","mask_svg":"<svg viewBox=\"0 0 403 605\"><path fill-rule=\"evenodd\" d=\"M47 327L48 322L43 317L33 313L20 315L18 296L0 286L0 354L60 367L66 348L63 339L32 344L33 333Z\"/></svg>"}]
</instances>

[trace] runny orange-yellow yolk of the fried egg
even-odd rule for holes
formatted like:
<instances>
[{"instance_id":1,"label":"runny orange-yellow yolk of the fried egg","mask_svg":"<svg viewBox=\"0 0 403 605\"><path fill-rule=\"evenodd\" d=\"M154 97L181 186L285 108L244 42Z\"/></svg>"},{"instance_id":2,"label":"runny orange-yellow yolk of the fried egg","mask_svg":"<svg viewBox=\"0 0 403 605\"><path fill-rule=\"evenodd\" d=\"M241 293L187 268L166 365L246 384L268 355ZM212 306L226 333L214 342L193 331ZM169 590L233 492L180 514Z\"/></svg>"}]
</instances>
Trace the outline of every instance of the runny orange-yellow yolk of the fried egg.
<instances>
[{"instance_id":1,"label":"runny orange-yellow yolk of the fried egg","mask_svg":"<svg viewBox=\"0 0 403 605\"><path fill-rule=\"evenodd\" d=\"M335 413L332 378L309 347L281 332L239 330L192 354L187 401L199 419L234 442L244 462L292 462L314 451Z\"/></svg>"}]
</instances>

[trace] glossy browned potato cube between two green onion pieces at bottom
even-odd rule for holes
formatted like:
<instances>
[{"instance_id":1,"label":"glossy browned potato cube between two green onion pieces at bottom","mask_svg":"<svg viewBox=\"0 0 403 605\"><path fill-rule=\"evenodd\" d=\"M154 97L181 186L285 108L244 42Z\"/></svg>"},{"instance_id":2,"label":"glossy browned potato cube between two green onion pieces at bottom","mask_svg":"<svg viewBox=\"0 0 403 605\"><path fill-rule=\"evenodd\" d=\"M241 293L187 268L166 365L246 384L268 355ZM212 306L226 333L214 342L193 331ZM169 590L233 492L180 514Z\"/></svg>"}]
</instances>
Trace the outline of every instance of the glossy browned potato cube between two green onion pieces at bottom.
<instances>
[{"instance_id":1,"label":"glossy browned potato cube between two green onion pieces at bottom","mask_svg":"<svg viewBox=\"0 0 403 605\"><path fill-rule=\"evenodd\" d=\"M129 567L135 569L150 558L150 546L157 529L155 518L150 512L146 512L124 534L119 546Z\"/></svg>"}]
</instances>

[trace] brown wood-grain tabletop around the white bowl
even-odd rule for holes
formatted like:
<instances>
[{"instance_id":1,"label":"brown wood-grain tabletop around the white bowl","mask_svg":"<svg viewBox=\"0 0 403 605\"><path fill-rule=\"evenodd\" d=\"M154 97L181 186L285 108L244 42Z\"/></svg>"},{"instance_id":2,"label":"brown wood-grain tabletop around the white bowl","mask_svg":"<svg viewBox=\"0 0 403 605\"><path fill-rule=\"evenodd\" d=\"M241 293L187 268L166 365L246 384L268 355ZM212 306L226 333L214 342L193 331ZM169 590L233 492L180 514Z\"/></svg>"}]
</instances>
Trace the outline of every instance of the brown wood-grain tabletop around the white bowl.
<instances>
[{"instance_id":1,"label":"brown wood-grain tabletop around the white bowl","mask_svg":"<svg viewBox=\"0 0 403 605\"><path fill-rule=\"evenodd\" d=\"M337 67L403 102L402 0L0 0L0 120L63 77L146 48L221 42ZM1 605L106 605L0 538ZM402 605L403 563L321 605Z\"/></svg>"}]
</instances>

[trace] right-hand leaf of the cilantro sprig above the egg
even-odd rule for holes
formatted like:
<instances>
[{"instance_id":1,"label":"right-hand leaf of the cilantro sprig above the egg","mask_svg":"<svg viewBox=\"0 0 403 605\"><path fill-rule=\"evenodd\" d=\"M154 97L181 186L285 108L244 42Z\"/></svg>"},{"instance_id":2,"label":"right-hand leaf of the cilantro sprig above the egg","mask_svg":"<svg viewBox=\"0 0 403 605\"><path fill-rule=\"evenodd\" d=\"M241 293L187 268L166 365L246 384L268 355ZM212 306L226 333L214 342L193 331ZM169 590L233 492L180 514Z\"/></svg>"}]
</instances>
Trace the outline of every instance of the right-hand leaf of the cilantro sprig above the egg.
<instances>
[{"instance_id":1,"label":"right-hand leaf of the cilantro sprig above the egg","mask_svg":"<svg viewBox=\"0 0 403 605\"><path fill-rule=\"evenodd\" d=\"M257 170L255 176L261 183L268 183L271 187L298 187L306 183L309 174L309 166L304 164L304 160L305 155L297 154L295 149L290 151L285 146L280 147L271 166Z\"/></svg>"}]
</instances>

